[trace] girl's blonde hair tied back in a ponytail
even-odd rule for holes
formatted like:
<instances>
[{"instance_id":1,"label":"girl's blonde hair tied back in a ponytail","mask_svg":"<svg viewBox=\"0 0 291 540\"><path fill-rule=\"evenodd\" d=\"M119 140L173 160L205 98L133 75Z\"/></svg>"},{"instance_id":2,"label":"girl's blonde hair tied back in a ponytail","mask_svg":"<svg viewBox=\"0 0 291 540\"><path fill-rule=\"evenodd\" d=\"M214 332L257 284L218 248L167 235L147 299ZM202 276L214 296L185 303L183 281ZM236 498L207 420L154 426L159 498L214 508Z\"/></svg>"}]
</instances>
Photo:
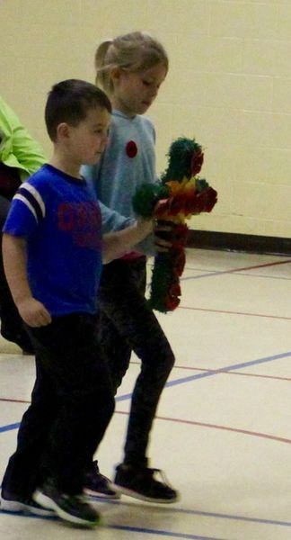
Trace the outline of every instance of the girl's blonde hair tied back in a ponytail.
<instances>
[{"instance_id":1,"label":"girl's blonde hair tied back in a ponytail","mask_svg":"<svg viewBox=\"0 0 291 540\"><path fill-rule=\"evenodd\" d=\"M168 70L169 59L163 45L146 32L133 31L99 45L95 53L95 83L112 94L112 68L121 67L137 73L159 63Z\"/></svg>"}]
</instances>

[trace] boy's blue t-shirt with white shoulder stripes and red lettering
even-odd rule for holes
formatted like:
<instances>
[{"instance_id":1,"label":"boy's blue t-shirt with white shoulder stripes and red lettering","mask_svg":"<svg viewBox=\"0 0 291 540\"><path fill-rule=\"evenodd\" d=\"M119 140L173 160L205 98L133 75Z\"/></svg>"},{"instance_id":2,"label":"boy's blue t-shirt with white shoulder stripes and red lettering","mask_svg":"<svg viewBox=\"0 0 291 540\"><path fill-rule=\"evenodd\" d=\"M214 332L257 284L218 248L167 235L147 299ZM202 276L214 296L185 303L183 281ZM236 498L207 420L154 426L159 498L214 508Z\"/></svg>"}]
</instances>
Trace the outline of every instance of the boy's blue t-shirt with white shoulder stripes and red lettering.
<instances>
[{"instance_id":1,"label":"boy's blue t-shirt with white shoulder stripes and red lettering","mask_svg":"<svg viewBox=\"0 0 291 540\"><path fill-rule=\"evenodd\" d=\"M3 230L26 238L31 292L52 316L96 311L101 211L92 186L42 166L13 197Z\"/></svg>"}]
</instances>

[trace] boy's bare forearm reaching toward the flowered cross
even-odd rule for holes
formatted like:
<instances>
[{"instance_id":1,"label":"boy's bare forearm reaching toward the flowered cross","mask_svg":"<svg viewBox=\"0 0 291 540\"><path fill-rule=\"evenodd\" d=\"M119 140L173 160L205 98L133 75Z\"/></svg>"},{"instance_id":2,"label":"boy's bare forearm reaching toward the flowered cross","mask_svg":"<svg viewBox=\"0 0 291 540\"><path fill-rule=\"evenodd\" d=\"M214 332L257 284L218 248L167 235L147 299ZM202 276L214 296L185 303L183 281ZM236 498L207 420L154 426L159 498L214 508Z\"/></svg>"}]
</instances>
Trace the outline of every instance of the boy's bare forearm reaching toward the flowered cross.
<instances>
[{"instance_id":1,"label":"boy's bare forearm reaching toward the flowered cross","mask_svg":"<svg viewBox=\"0 0 291 540\"><path fill-rule=\"evenodd\" d=\"M109 263L112 259L121 257L143 238L153 231L153 220L137 220L127 229L109 232L103 235L102 260Z\"/></svg>"}]
</instances>

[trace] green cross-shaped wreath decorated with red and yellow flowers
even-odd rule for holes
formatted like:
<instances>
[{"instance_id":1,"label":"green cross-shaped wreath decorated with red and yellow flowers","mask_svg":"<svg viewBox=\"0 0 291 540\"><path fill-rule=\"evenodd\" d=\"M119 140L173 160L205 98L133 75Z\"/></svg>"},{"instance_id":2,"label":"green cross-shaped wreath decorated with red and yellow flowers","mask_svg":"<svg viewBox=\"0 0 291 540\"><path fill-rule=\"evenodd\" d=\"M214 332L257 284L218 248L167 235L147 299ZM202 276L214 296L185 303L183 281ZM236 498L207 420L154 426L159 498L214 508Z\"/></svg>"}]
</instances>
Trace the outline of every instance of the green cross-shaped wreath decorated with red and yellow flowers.
<instances>
[{"instance_id":1,"label":"green cross-shaped wreath decorated with red and yellow flowers","mask_svg":"<svg viewBox=\"0 0 291 540\"><path fill-rule=\"evenodd\" d=\"M137 189L133 206L138 215L154 217L171 232L158 233L169 239L172 247L154 257L149 304L156 311L175 310L181 297L180 277L186 255L189 228L186 220L202 211L211 211L217 193L198 173L203 165L202 147L195 139L179 138L172 142L168 167L158 184L143 184Z\"/></svg>"}]
</instances>

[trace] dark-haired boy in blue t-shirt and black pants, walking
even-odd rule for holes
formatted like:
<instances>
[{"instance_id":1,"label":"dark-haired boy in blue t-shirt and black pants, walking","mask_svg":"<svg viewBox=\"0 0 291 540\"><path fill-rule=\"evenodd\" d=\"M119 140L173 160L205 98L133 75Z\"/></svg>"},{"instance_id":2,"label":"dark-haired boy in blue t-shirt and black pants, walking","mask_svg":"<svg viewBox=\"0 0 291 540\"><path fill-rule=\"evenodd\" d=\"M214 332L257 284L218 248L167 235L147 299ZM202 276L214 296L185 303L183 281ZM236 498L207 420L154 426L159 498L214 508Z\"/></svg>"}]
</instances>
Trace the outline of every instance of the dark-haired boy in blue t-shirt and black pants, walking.
<instances>
[{"instance_id":1,"label":"dark-haired boy in blue t-shirt and black pants, walking","mask_svg":"<svg viewBox=\"0 0 291 540\"><path fill-rule=\"evenodd\" d=\"M101 236L99 203L80 166L99 161L110 112L95 85L71 79L53 86L45 112L53 156L22 184L4 225L4 269L36 351L37 375L1 508L53 511L85 527L100 521L83 496L85 469L114 410L96 335L101 264L153 229L140 220Z\"/></svg>"}]
</instances>

